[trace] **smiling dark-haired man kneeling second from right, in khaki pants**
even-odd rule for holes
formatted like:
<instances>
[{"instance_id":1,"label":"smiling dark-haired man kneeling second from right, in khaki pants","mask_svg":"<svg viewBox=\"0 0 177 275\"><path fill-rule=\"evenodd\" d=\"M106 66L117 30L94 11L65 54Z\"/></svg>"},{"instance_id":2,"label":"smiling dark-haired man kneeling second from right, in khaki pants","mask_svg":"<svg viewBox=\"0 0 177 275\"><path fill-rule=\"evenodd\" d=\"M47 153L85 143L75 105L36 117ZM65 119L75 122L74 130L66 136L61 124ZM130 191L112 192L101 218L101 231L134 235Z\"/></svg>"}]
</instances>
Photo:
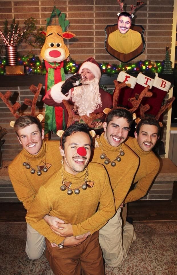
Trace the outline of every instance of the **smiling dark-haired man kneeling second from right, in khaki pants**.
<instances>
[{"instance_id":1,"label":"smiling dark-haired man kneeling second from right, in khaki pants","mask_svg":"<svg viewBox=\"0 0 177 275\"><path fill-rule=\"evenodd\" d=\"M122 238L122 219L120 217L120 205L126 198L139 165L138 156L124 144L132 121L132 113L127 109L121 107L112 109L103 123L104 133L97 138L99 147L94 149L92 156L92 162L103 164L106 168L114 194L116 214L99 231L99 242L104 261L113 267L125 260L132 241L136 239L134 227L128 222L124 227ZM66 223L59 224L59 226L65 229L68 227ZM52 230L63 236L62 229L52 227Z\"/></svg>"}]
</instances>

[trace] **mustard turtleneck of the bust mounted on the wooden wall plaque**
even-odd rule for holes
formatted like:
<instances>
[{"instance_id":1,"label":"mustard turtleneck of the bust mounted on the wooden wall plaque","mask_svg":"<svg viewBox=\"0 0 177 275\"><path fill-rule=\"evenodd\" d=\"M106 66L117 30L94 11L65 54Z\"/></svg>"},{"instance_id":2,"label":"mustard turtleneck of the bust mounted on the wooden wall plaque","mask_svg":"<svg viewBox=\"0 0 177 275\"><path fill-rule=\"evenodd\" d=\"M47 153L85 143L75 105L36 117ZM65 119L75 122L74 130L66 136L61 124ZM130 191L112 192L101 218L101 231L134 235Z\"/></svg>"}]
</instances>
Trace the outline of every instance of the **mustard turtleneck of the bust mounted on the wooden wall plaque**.
<instances>
[{"instance_id":1,"label":"mustard turtleneck of the bust mounted on the wooden wall plaque","mask_svg":"<svg viewBox=\"0 0 177 275\"><path fill-rule=\"evenodd\" d=\"M116 30L110 33L108 37L108 44L123 54L133 52L141 45L141 42L141 34L131 29L126 34L121 34L119 30Z\"/></svg>"}]
</instances>

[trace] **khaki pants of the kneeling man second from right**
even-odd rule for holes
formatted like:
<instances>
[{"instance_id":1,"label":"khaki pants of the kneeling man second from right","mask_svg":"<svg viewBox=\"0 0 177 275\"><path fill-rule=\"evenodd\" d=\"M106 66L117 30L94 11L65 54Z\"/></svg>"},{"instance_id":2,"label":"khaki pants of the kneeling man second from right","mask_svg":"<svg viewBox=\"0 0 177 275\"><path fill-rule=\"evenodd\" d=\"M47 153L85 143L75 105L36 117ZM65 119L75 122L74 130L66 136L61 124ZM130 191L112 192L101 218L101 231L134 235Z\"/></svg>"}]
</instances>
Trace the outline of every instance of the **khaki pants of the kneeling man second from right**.
<instances>
[{"instance_id":1,"label":"khaki pants of the kneeling man second from right","mask_svg":"<svg viewBox=\"0 0 177 275\"><path fill-rule=\"evenodd\" d=\"M136 233L132 224L126 222L122 237L122 219L120 208L106 225L100 229L99 242L103 258L108 266L117 267L126 259L127 252L134 240Z\"/></svg>"}]
</instances>

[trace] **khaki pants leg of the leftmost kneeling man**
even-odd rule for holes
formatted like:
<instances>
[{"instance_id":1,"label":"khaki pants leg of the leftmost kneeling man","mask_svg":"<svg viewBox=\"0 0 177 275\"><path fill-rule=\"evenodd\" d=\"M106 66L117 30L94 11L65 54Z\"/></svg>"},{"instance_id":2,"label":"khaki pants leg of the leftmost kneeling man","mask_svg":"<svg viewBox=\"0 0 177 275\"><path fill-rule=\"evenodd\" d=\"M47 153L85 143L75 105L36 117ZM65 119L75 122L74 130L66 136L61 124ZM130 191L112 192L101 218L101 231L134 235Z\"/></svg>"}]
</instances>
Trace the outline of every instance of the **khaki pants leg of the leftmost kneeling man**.
<instances>
[{"instance_id":1,"label":"khaki pants leg of the leftmost kneeling man","mask_svg":"<svg viewBox=\"0 0 177 275\"><path fill-rule=\"evenodd\" d=\"M27 223L26 253L31 260L39 259L45 250L45 237Z\"/></svg>"}]
</instances>

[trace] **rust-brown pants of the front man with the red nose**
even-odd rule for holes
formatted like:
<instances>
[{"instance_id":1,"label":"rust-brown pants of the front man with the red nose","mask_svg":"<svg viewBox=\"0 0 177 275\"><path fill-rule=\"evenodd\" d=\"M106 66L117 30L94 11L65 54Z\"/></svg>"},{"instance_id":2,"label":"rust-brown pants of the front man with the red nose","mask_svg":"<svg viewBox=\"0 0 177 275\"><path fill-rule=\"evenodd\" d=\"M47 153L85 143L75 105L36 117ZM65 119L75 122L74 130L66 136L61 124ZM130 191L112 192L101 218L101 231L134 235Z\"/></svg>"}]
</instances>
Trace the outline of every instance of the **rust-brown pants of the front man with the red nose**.
<instances>
[{"instance_id":1,"label":"rust-brown pants of the front man with the red nose","mask_svg":"<svg viewBox=\"0 0 177 275\"><path fill-rule=\"evenodd\" d=\"M46 258L55 275L104 275L99 231L75 247L51 247L46 239Z\"/></svg>"}]
</instances>

